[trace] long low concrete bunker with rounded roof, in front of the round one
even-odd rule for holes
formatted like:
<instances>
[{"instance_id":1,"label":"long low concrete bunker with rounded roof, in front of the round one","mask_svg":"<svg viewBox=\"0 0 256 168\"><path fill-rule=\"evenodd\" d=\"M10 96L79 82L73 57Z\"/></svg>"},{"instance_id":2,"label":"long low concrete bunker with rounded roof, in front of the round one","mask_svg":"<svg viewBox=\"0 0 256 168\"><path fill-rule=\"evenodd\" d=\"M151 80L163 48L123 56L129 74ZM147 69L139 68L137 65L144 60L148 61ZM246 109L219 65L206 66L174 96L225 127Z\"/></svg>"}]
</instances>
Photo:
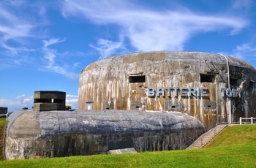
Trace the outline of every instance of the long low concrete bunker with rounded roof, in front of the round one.
<instances>
[{"instance_id":1,"label":"long low concrete bunker with rounded roof, in front of the round one","mask_svg":"<svg viewBox=\"0 0 256 168\"><path fill-rule=\"evenodd\" d=\"M7 159L31 159L107 153L121 147L184 149L203 131L200 121L181 112L28 111L9 121L5 154Z\"/></svg>"}]
</instances>

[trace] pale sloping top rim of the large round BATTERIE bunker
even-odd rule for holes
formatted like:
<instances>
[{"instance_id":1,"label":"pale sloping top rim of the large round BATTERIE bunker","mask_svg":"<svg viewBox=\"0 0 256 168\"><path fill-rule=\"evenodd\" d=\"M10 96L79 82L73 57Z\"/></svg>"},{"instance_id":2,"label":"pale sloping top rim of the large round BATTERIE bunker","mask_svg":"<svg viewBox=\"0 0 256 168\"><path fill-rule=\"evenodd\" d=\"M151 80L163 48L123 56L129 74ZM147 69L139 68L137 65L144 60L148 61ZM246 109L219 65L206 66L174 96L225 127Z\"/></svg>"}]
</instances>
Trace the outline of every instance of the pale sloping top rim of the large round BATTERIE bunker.
<instances>
[{"instance_id":1,"label":"pale sloping top rim of the large round BATTERIE bunker","mask_svg":"<svg viewBox=\"0 0 256 168\"><path fill-rule=\"evenodd\" d=\"M249 69L255 69L251 64L246 61L242 61L238 58L233 58L230 56L223 56L221 54L215 53L202 53L202 52L146 52L146 53L131 53L123 56L114 56L110 58L105 58L99 61L96 61L89 66L86 66L83 71L88 71L95 69L98 66L115 66L116 64L124 63L136 63L140 61L212 61L217 64L227 64L227 59L230 66L238 66ZM140 67L143 68L143 67ZM82 71L82 72L83 72ZM81 72L81 73L82 73Z\"/></svg>"}]
</instances>

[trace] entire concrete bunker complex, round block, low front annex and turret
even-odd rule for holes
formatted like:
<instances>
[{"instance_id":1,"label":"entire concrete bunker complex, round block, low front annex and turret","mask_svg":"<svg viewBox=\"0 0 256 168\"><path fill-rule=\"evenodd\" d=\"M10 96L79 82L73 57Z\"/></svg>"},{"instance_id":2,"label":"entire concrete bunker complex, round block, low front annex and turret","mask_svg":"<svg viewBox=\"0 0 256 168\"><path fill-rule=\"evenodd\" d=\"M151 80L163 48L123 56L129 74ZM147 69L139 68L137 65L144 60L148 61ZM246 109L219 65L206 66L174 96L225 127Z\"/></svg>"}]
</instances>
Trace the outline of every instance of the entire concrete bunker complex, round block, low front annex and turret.
<instances>
[{"instance_id":1,"label":"entire concrete bunker complex, round block, low front annex and turret","mask_svg":"<svg viewBox=\"0 0 256 168\"><path fill-rule=\"evenodd\" d=\"M255 117L255 72L237 58L197 52L96 61L80 73L79 110L59 111L64 93L38 91L34 110L10 115L6 158L187 148L219 122Z\"/></svg>"}]
</instances>

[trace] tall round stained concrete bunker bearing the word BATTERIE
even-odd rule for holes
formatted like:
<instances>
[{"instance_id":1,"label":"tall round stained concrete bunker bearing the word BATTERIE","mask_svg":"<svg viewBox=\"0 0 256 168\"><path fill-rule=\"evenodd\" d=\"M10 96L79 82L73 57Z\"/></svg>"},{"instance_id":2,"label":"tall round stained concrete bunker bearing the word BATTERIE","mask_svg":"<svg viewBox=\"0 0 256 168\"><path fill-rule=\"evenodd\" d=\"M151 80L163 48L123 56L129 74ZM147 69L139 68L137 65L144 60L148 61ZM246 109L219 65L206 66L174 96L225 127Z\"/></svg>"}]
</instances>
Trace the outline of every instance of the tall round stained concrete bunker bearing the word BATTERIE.
<instances>
[{"instance_id":1,"label":"tall round stained concrete bunker bearing the word BATTERIE","mask_svg":"<svg viewBox=\"0 0 256 168\"><path fill-rule=\"evenodd\" d=\"M245 61L212 53L151 52L105 58L80 73L78 108L86 109L89 102L95 110L110 109L106 104L111 104L116 110L180 111L211 127L219 121L238 121L240 116L256 117L255 72ZM233 89L240 97L226 95L229 81L228 93ZM167 87L172 88L171 96ZM206 88L207 96L200 92L181 96L183 87ZM165 96L150 97L148 88L156 93L163 88Z\"/></svg>"}]
</instances>

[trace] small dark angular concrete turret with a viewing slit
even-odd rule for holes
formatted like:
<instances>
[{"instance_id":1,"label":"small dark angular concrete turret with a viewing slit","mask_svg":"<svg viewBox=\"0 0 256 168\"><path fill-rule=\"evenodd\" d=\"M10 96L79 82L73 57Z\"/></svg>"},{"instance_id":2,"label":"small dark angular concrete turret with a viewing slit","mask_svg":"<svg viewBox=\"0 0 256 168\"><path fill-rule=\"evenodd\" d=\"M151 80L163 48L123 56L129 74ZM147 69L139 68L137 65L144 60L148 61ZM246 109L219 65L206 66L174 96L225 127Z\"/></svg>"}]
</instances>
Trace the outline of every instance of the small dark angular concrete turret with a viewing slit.
<instances>
[{"instance_id":1,"label":"small dark angular concrete turret with a viewing slit","mask_svg":"<svg viewBox=\"0 0 256 168\"><path fill-rule=\"evenodd\" d=\"M66 92L62 91L35 91L34 110L66 110Z\"/></svg>"}]
</instances>

